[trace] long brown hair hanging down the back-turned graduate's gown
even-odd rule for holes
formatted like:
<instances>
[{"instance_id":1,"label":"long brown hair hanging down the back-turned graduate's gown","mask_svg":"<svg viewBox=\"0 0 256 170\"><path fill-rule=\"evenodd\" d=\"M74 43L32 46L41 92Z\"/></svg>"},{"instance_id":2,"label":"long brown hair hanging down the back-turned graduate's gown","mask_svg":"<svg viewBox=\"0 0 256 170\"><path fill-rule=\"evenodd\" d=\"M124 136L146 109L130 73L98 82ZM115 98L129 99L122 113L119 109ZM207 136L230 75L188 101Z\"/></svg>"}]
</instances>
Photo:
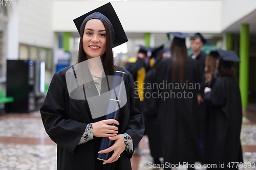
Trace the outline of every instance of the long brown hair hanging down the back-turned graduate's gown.
<instances>
[{"instance_id":1,"label":"long brown hair hanging down the back-turned graduate's gown","mask_svg":"<svg viewBox=\"0 0 256 170\"><path fill-rule=\"evenodd\" d=\"M172 63L172 77L173 82L180 82L181 84L184 84L184 62L186 60L187 56L187 47L186 45L183 46L177 46L174 43L170 44L170 54L173 58ZM178 81L177 81L177 75Z\"/></svg>"}]
</instances>

